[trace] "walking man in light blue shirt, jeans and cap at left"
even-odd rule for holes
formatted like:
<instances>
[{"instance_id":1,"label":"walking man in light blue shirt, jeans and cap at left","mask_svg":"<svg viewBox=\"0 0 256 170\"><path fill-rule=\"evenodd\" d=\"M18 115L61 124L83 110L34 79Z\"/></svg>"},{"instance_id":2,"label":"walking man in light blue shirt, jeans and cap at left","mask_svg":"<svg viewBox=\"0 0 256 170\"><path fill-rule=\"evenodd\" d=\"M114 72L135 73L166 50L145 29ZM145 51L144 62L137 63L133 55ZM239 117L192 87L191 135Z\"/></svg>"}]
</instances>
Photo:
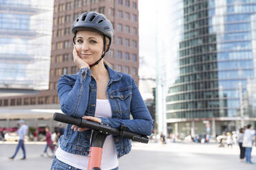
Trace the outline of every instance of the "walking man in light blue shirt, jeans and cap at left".
<instances>
[{"instance_id":1,"label":"walking man in light blue shirt, jeans and cap at left","mask_svg":"<svg viewBox=\"0 0 256 170\"><path fill-rule=\"evenodd\" d=\"M16 147L14 155L11 156L10 159L13 160L15 158L15 156L19 151L19 148L21 147L23 151L23 158L21 158L21 160L25 160L26 156L25 156L24 139L25 139L25 135L28 133L28 125L25 125L25 122L23 120L18 121L18 123L19 123L19 130L17 130L17 133L19 134L19 143Z\"/></svg>"}]
</instances>

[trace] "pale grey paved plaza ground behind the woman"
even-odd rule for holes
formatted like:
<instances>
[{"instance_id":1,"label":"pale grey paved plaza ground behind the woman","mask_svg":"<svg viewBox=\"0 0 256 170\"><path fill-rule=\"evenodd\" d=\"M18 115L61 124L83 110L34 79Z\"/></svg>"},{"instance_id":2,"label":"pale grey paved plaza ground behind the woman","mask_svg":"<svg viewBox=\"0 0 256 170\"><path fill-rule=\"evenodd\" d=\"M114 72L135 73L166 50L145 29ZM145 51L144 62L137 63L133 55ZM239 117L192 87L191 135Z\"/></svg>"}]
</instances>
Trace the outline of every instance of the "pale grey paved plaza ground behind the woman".
<instances>
[{"instance_id":1,"label":"pale grey paved plaza ground behind the woman","mask_svg":"<svg viewBox=\"0 0 256 170\"><path fill-rule=\"evenodd\" d=\"M255 165L247 165L239 161L239 148L219 148L217 144L195 143L133 143L130 154L120 158L120 170L159 170L159 169L189 169L189 170L255 170ZM44 145L27 144L27 160L19 160L22 151L14 160L12 156L15 144L0 144L0 169L50 169L52 158L41 157ZM256 162L256 148L253 148L253 162Z\"/></svg>"}]
</instances>

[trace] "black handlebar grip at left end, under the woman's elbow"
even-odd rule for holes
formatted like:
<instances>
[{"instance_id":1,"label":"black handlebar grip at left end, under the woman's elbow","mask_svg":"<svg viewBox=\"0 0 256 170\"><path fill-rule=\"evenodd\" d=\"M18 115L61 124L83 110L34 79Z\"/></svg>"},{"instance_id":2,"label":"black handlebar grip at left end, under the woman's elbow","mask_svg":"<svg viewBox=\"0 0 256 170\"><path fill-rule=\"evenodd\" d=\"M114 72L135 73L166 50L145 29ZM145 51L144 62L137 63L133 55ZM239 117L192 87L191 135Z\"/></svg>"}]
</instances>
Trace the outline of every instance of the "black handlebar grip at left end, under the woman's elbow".
<instances>
[{"instance_id":1,"label":"black handlebar grip at left end, under the woman's elbow","mask_svg":"<svg viewBox=\"0 0 256 170\"><path fill-rule=\"evenodd\" d=\"M77 126L81 125L81 118L70 117L59 112L54 113L53 119L54 121L60 121L60 122L68 123L72 125L77 125Z\"/></svg>"}]
</instances>

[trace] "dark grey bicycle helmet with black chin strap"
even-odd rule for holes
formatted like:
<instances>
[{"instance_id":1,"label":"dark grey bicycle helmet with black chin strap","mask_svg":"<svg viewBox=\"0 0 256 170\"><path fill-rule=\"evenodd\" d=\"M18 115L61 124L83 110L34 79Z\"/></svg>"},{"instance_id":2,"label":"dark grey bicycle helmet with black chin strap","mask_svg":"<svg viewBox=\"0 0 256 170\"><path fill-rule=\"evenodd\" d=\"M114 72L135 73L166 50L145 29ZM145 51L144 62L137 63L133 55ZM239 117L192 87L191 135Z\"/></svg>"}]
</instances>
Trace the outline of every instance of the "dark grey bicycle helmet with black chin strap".
<instances>
[{"instance_id":1,"label":"dark grey bicycle helmet with black chin strap","mask_svg":"<svg viewBox=\"0 0 256 170\"><path fill-rule=\"evenodd\" d=\"M72 33L74 34L73 42L74 42L74 39L76 38L76 32L80 30L85 30L85 29L96 31L103 35L103 45L104 45L103 55L100 57L98 61L90 65L92 67L98 64L98 62L100 62L100 60L104 58L105 53L109 51L109 47L113 39L113 26L111 22L103 14L99 14L98 12L94 12L94 11L84 12L83 14L78 16L78 18L72 24ZM107 50L105 50L105 46L106 46L105 36L109 38L109 46ZM76 43L74 42L74 44Z\"/></svg>"}]
</instances>

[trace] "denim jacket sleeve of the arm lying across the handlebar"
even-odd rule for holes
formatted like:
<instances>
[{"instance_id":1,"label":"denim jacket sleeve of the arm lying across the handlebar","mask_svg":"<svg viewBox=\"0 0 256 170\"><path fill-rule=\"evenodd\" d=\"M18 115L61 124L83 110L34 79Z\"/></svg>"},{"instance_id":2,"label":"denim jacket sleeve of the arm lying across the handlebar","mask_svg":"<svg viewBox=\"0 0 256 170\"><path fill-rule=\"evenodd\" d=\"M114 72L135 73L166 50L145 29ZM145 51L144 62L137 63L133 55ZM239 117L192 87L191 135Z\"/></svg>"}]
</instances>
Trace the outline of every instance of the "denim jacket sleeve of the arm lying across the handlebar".
<instances>
[{"instance_id":1,"label":"denim jacket sleeve of the arm lying across the handlebar","mask_svg":"<svg viewBox=\"0 0 256 170\"><path fill-rule=\"evenodd\" d=\"M134 79L132 79L132 97L130 110L133 117L132 120L106 117L100 117L100 119L105 125L110 125L114 128L119 128L120 125L126 125L127 130L130 132L149 136L153 131L153 120L149 114L147 106L145 105L140 95L140 91L138 90Z\"/></svg>"}]
</instances>

